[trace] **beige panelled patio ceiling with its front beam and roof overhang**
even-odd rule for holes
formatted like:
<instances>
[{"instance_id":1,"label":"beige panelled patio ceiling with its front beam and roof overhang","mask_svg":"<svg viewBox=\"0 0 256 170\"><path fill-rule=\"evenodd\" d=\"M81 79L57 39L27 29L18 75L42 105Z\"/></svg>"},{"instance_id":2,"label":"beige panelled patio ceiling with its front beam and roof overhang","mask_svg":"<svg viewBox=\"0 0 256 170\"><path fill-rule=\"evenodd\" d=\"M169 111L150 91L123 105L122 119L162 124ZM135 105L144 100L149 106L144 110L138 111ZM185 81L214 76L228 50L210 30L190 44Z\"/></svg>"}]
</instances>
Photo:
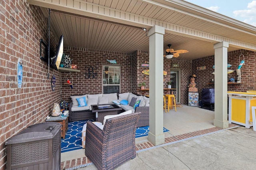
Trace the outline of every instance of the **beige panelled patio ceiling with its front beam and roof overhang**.
<instances>
[{"instance_id":1,"label":"beige panelled patio ceiling with its front beam and roof overhang","mask_svg":"<svg viewBox=\"0 0 256 170\"><path fill-rule=\"evenodd\" d=\"M64 46L132 53L149 51L147 31L165 27L163 54L186 49L182 59L214 55L213 45L229 43L228 51L256 51L256 27L183 0L28 0L40 6ZM144 31L142 28L146 28ZM159 56L163 57L163 56Z\"/></svg>"}]
</instances>

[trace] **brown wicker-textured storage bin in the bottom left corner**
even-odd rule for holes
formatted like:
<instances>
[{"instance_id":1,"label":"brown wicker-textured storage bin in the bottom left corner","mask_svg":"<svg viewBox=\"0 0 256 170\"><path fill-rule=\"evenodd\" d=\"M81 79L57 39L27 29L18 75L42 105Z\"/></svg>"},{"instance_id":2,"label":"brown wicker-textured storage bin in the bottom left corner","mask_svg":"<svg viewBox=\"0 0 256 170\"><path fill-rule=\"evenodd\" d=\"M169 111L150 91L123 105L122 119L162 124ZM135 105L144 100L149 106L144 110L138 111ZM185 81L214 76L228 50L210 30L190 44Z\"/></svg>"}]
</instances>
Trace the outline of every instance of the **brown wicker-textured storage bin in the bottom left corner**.
<instances>
[{"instance_id":1,"label":"brown wicker-textured storage bin in the bottom left corner","mask_svg":"<svg viewBox=\"0 0 256 170\"><path fill-rule=\"evenodd\" d=\"M60 170L60 123L29 126L6 141L7 170Z\"/></svg>"}]
</instances>

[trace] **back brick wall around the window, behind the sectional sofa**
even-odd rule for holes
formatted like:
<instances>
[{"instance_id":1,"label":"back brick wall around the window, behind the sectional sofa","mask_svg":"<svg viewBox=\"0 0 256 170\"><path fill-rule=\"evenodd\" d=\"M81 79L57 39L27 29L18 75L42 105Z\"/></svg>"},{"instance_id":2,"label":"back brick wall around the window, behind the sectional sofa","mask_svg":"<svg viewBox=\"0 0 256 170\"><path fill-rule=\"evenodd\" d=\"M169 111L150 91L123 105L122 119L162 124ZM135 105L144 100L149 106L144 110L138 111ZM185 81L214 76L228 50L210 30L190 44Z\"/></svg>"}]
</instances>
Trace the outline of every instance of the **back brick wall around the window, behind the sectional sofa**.
<instances>
[{"instance_id":1,"label":"back brick wall around the window, behind the sectional sofa","mask_svg":"<svg viewBox=\"0 0 256 170\"><path fill-rule=\"evenodd\" d=\"M60 80L62 100L70 102L71 95L102 93L102 65L121 66L121 93L132 91L132 57L130 53L76 47L64 47L64 53L70 56L72 64L76 64L80 72L62 72ZM107 59L115 59L117 64L110 64ZM88 72L89 66L94 68L94 72L98 74L97 78L86 79L84 77L85 73ZM70 85L64 84L67 74L71 74L72 76L73 89L70 88ZM67 77L70 79L71 76L68 75Z\"/></svg>"}]
</instances>

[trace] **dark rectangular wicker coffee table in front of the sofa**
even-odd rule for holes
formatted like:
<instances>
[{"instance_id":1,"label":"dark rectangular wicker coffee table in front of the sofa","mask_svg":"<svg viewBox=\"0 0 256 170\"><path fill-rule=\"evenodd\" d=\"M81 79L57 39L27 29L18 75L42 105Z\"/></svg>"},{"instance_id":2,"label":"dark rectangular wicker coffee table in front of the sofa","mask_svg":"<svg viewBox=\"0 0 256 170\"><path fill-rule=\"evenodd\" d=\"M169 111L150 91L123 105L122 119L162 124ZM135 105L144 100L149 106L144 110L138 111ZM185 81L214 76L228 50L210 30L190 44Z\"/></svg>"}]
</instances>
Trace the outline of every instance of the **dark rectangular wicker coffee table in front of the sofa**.
<instances>
[{"instance_id":1,"label":"dark rectangular wicker coffee table in front of the sofa","mask_svg":"<svg viewBox=\"0 0 256 170\"><path fill-rule=\"evenodd\" d=\"M122 108L116 104L97 104L91 105L92 113L96 113L96 121L103 123L104 116L117 115L122 112Z\"/></svg>"}]
</instances>

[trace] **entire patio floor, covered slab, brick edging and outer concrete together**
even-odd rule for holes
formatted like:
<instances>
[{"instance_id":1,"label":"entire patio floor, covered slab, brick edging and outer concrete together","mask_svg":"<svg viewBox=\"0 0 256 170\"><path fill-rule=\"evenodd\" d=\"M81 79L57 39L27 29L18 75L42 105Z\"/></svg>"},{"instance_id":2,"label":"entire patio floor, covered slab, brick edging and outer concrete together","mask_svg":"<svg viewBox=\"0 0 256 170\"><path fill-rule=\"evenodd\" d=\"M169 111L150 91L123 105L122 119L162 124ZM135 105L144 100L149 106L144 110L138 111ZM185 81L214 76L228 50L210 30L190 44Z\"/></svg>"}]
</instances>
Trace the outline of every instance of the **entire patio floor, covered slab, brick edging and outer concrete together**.
<instances>
[{"instance_id":1,"label":"entire patio floor, covered slab, brick edging and outer concrete together","mask_svg":"<svg viewBox=\"0 0 256 170\"><path fill-rule=\"evenodd\" d=\"M163 114L164 127L170 130L164 133L165 144L154 147L148 142L147 137L136 138L136 158L117 169L234 169L230 168L236 165L230 164L233 162L232 158L228 162L222 157L229 159L230 154L238 154L238 150L245 156L241 147L250 146L247 144L240 146L236 143L236 139L241 144L242 140L247 139L252 140L249 143L256 142L256 133L252 128L246 129L235 124L230 124L230 130L214 127L214 111L183 105L177 108L177 112L172 109L168 113L163 111ZM235 127L239 128L232 129ZM226 145L229 146L228 149L225 149ZM251 144L250 149L254 154L256 147ZM255 158L255 155L252 158ZM248 158L244 161L250 160L251 158ZM61 162L62 168L68 170L96 169L85 156L84 149L62 153ZM224 162L228 162L227 165ZM244 169L244 166L235 169Z\"/></svg>"}]
</instances>

